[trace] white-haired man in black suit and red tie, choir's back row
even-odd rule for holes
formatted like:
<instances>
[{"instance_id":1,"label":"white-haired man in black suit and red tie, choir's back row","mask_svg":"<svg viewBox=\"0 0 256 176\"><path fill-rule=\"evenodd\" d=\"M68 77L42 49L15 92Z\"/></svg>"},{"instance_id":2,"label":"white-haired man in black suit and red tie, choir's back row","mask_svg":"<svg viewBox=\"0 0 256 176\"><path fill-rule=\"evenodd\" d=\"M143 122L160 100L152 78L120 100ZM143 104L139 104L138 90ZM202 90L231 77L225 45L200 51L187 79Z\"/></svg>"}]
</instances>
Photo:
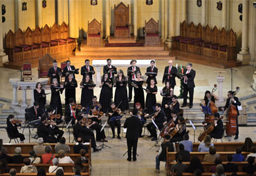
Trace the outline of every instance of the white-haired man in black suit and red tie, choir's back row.
<instances>
[{"instance_id":1,"label":"white-haired man in black suit and red tie, choir's back row","mask_svg":"<svg viewBox=\"0 0 256 176\"><path fill-rule=\"evenodd\" d=\"M163 81L162 84L166 84L167 81L170 82L172 89L176 85L175 77L177 75L177 68L172 66L172 60L168 61L168 65L165 67L165 72L163 72ZM169 74L169 75L168 75Z\"/></svg>"}]
</instances>

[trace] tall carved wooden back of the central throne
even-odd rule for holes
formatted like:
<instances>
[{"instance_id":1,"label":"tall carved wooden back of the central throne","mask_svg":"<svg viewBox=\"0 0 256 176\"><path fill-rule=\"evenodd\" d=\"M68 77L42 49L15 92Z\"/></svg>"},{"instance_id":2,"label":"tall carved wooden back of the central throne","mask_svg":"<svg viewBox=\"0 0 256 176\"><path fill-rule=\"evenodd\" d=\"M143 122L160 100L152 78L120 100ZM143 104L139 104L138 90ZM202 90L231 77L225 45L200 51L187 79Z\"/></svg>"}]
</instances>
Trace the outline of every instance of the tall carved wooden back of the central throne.
<instances>
[{"instance_id":1,"label":"tall carved wooden back of the central throne","mask_svg":"<svg viewBox=\"0 0 256 176\"><path fill-rule=\"evenodd\" d=\"M129 24L129 5L125 6L124 3L119 3L118 6L114 7L115 14L115 26L127 26Z\"/></svg>"}]
</instances>

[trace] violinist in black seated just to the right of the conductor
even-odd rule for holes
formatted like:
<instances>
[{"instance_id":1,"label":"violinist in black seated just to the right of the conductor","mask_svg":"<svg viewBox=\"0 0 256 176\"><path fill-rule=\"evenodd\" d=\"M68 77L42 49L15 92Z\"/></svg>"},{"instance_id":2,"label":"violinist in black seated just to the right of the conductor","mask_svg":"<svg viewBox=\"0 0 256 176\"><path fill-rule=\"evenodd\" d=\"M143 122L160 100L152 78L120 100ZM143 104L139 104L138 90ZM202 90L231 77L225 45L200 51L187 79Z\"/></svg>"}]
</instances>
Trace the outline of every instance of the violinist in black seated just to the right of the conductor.
<instances>
[{"instance_id":1,"label":"violinist in black seated just to the right of the conductor","mask_svg":"<svg viewBox=\"0 0 256 176\"><path fill-rule=\"evenodd\" d=\"M154 120L159 130L163 128L163 122L165 122L165 115L163 113L163 110L161 109L161 104L156 104L156 112L152 116L152 120ZM156 141L157 139L156 126L154 126L153 122L147 124L147 130L149 130L150 133L149 137L153 137L152 141Z\"/></svg>"}]
</instances>

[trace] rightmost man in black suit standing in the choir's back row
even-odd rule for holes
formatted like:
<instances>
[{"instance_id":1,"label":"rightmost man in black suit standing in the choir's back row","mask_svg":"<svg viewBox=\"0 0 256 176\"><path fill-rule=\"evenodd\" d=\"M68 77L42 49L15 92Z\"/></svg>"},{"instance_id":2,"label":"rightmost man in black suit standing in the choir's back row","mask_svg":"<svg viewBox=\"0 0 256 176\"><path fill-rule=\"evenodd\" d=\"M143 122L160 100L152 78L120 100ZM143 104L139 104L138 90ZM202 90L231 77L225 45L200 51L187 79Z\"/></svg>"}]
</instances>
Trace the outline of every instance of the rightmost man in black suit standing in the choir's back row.
<instances>
[{"instance_id":1,"label":"rightmost man in black suit standing in the choir's back row","mask_svg":"<svg viewBox=\"0 0 256 176\"><path fill-rule=\"evenodd\" d=\"M182 78L183 81L183 104L181 108L187 106L188 92L190 93L190 108L193 107L194 99L194 77L196 77L196 71L192 69L192 63L187 64L187 69L184 70L185 76Z\"/></svg>"}]
</instances>

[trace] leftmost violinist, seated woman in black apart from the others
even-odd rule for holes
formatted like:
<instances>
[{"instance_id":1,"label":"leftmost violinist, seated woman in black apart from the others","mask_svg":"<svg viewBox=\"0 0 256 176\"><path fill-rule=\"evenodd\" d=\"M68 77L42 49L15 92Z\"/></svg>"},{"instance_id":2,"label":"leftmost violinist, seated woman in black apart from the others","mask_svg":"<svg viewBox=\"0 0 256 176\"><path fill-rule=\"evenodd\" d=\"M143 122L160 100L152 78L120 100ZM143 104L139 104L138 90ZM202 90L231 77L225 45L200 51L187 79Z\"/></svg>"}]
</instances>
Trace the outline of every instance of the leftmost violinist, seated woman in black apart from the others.
<instances>
[{"instance_id":1,"label":"leftmost violinist, seated woman in black apart from the others","mask_svg":"<svg viewBox=\"0 0 256 176\"><path fill-rule=\"evenodd\" d=\"M6 130L8 131L10 137L19 138L21 140L21 144L24 144L25 137L24 134L19 133L18 128L20 129L21 126L17 125L17 122L19 121L15 120L14 115L8 115L6 118Z\"/></svg>"}]
</instances>

